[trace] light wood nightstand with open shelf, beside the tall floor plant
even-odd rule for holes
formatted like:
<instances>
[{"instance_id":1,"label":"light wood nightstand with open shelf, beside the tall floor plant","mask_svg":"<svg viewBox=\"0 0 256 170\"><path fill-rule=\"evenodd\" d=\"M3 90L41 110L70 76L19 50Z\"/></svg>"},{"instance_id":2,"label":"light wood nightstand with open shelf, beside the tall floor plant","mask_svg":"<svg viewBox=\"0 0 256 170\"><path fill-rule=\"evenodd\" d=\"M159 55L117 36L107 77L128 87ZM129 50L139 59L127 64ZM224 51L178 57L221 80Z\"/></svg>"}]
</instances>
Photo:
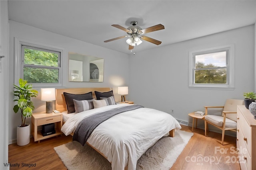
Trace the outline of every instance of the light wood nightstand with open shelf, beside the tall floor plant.
<instances>
[{"instance_id":1,"label":"light wood nightstand with open shelf, beside the tall floor plant","mask_svg":"<svg viewBox=\"0 0 256 170\"><path fill-rule=\"evenodd\" d=\"M34 141L38 141L40 143L40 140L47 139L50 137L61 135L61 127L62 127L62 113L45 113L44 112L38 112L33 113L31 117L31 123L32 123L32 135L34 137ZM52 135L43 136L41 131L38 131L38 126L46 125L49 123L55 124L55 131L56 133Z\"/></svg>"}]
</instances>

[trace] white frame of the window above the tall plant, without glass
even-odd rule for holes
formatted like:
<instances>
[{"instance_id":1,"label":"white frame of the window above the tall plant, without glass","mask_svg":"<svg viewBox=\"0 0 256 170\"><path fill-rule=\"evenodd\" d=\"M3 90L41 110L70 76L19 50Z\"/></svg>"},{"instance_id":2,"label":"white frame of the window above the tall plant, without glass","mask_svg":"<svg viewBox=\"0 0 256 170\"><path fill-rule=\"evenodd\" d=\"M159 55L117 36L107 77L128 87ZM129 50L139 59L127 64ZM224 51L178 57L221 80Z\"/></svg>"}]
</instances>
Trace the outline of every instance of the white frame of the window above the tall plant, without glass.
<instances>
[{"instance_id":1,"label":"white frame of the window above the tall plant, without glass","mask_svg":"<svg viewBox=\"0 0 256 170\"><path fill-rule=\"evenodd\" d=\"M52 45L46 45L43 43L38 43L38 42L32 42L24 39L18 39L14 38L14 45L15 45L15 51L14 51L14 56L15 56L15 74L14 74L14 83L18 84L19 78L23 78L23 69L24 66L31 66L30 64L24 64L24 50L22 48L27 46L30 49L36 49L36 50L42 50L42 51L48 51L48 52L57 52L60 53L58 56L58 67L54 67L59 70L59 75L58 75L58 83L30 83L33 85L33 87L56 87L56 86L62 86L62 56L63 56L63 48L61 47L56 47ZM50 68L48 66L38 66L34 65L31 66L34 68Z\"/></svg>"}]
</instances>

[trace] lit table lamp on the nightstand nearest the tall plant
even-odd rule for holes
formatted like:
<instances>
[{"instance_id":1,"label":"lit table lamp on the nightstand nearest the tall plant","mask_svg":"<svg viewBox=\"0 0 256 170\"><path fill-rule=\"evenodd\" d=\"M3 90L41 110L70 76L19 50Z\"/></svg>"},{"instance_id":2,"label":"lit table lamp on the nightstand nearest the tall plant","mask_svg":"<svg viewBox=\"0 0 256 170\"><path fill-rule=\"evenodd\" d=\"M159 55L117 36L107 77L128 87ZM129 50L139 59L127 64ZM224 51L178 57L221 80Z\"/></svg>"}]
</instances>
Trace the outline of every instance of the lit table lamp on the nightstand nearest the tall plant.
<instances>
[{"instance_id":1,"label":"lit table lamp on the nightstand nearest the tall plant","mask_svg":"<svg viewBox=\"0 0 256 170\"><path fill-rule=\"evenodd\" d=\"M41 100L46 101L46 113L52 113L52 100L56 100L55 88L41 88Z\"/></svg>"}]
</instances>

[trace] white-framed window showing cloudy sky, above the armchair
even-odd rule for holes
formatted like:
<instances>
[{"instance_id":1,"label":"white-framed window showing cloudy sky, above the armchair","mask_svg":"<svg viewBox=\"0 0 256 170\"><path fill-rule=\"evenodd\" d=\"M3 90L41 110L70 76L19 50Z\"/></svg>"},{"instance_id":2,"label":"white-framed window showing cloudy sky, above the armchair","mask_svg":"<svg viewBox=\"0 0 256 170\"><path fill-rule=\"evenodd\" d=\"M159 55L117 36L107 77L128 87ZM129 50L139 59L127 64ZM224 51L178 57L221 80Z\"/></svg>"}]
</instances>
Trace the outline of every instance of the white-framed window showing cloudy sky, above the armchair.
<instances>
[{"instance_id":1,"label":"white-framed window showing cloudy sky, above the armchair","mask_svg":"<svg viewBox=\"0 0 256 170\"><path fill-rule=\"evenodd\" d=\"M190 53L190 87L234 88L232 46Z\"/></svg>"}]
</instances>

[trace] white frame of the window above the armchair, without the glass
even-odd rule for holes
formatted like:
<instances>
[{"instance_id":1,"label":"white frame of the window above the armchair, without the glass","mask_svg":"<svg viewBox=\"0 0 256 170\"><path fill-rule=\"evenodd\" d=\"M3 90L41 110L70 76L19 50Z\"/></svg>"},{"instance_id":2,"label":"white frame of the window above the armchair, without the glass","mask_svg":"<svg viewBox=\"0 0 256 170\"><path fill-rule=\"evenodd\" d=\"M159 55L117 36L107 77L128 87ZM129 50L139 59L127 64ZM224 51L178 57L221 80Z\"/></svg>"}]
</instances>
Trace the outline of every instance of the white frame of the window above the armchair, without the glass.
<instances>
[{"instance_id":1,"label":"white frame of the window above the armchair, without the glass","mask_svg":"<svg viewBox=\"0 0 256 170\"><path fill-rule=\"evenodd\" d=\"M217 53L227 51L226 55L226 66L220 67L226 68L226 84L206 84L206 83L195 83L195 70L196 68L196 55L203 55L209 53ZM200 88L200 89L222 89L222 90L234 90L234 45L226 45L222 47L214 47L210 49L202 49L198 51L189 52L189 88Z\"/></svg>"}]
</instances>

